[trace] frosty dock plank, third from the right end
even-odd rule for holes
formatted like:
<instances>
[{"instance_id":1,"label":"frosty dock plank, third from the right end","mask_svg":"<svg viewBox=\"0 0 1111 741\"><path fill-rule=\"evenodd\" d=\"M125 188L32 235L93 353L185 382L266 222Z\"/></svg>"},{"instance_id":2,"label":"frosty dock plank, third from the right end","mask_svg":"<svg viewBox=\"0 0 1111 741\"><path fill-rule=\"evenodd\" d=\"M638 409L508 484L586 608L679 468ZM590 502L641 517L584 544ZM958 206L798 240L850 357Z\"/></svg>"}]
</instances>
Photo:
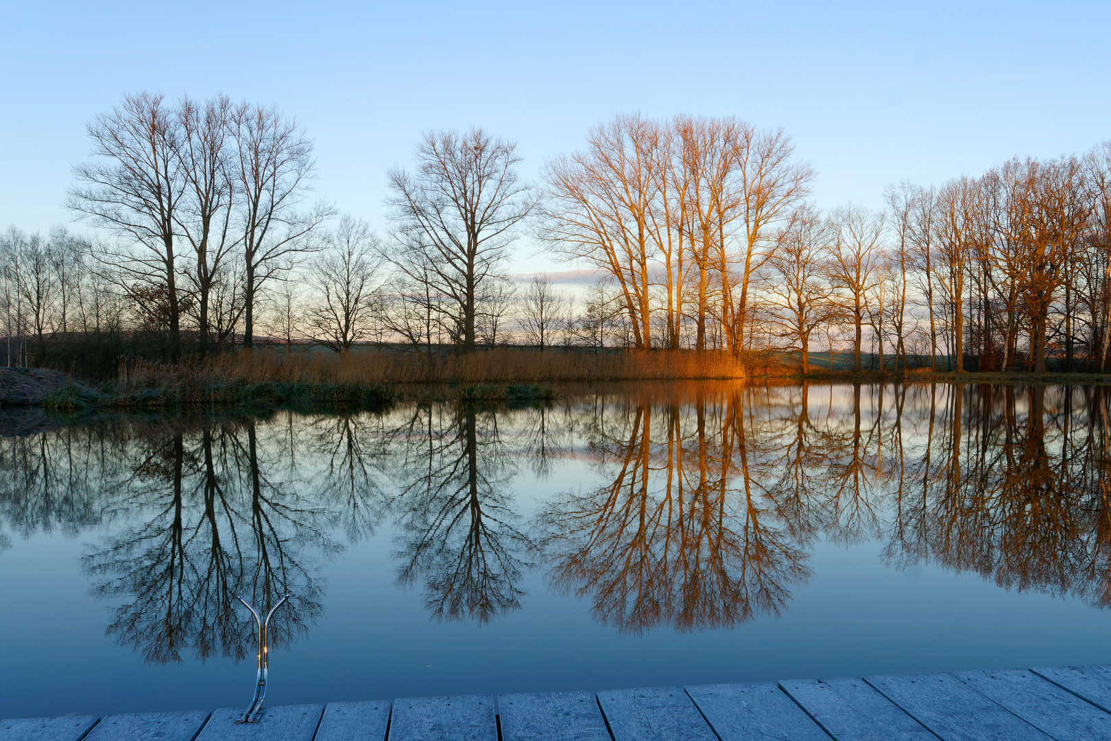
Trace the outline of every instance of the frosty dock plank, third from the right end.
<instances>
[{"instance_id":1,"label":"frosty dock plank, third from the right end","mask_svg":"<svg viewBox=\"0 0 1111 741\"><path fill-rule=\"evenodd\" d=\"M865 677L944 741L1045 741L1045 735L952 674Z\"/></svg>"}]
</instances>

